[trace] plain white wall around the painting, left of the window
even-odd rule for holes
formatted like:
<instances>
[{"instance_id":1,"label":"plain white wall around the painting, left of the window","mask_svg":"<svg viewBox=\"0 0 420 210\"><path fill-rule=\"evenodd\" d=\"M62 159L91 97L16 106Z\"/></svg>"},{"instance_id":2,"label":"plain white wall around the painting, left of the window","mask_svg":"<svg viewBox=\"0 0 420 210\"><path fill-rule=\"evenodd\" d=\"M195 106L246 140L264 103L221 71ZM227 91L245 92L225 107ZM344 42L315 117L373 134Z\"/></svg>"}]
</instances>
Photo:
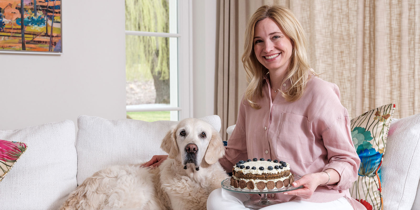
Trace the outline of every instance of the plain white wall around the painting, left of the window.
<instances>
[{"instance_id":1,"label":"plain white wall around the painting, left of the window","mask_svg":"<svg viewBox=\"0 0 420 210\"><path fill-rule=\"evenodd\" d=\"M0 54L2 130L126 117L124 3L62 6L63 55Z\"/></svg>"}]
</instances>

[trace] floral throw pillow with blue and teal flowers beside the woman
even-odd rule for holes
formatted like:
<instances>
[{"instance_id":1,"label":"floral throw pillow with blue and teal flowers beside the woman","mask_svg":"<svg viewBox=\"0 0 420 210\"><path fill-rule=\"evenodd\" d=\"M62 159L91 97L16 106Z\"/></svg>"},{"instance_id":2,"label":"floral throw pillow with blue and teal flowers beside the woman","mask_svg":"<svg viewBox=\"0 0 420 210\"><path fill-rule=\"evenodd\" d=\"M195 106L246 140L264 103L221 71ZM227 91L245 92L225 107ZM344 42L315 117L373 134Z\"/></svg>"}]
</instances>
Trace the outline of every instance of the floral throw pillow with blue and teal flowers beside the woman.
<instances>
[{"instance_id":1,"label":"floral throw pillow with blue and teal flowers beside the woman","mask_svg":"<svg viewBox=\"0 0 420 210\"><path fill-rule=\"evenodd\" d=\"M350 121L353 144L360 157L359 177L350 193L367 210L383 210L381 164L394 110L395 104L387 104Z\"/></svg>"}]
</instances>

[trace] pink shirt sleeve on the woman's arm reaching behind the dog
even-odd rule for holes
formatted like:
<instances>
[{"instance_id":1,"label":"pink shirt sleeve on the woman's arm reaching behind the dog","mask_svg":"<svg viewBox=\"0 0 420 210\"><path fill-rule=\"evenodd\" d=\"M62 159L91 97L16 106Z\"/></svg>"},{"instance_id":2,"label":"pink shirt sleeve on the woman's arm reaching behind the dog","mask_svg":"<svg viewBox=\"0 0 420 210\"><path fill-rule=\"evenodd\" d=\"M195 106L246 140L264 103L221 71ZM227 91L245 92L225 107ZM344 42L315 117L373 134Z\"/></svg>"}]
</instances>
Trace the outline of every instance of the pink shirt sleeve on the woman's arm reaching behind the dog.
<instances>
[{"instance_id":1,"label":"pink shirt sleeve on the woman's arm reaching behind the dog","mask_svg":"<svg viewBox=\"0 0 420 210\"><path fill-rule=\"evenodd\" d=\"M225 146L225 156L219 159L220 165L222 165L227 172L230 172L232 167L239 160L246 160L248 157L245 128L246 115L243 101L244 98L242 98L241 105L239 106L235 129L228 140L227 146Z\"/></svg>"}]
</instances>

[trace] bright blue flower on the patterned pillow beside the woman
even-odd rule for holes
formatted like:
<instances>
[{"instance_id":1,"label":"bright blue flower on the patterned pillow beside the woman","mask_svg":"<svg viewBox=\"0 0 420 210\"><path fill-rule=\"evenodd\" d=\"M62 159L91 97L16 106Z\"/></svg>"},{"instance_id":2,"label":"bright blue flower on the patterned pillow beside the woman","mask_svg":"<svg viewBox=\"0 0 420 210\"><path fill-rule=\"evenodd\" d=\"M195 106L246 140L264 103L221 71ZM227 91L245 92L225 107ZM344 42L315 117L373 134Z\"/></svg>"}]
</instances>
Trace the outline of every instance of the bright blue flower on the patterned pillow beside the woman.
<instances>
[{"instance_id":1,"label":"bright blue flower on the patterned pillow beside the woman","mask_svg":"<svg viewBox=\"0 0 420 210\"><path fill-rule=\"evenodd\" d=\"M382 154L377 152L374 148L365 149L359 154L360 168L359 175L373 177L375 171L381 163Z\"/></svg>"}]
</instances>

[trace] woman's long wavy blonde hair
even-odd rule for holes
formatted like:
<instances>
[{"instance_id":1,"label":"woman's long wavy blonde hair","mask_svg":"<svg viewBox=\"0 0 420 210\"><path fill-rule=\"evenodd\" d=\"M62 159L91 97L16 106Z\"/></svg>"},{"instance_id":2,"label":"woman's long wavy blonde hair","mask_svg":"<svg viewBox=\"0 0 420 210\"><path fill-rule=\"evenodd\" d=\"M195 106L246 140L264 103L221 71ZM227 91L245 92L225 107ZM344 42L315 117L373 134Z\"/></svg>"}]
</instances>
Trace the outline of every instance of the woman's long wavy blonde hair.
<instances>
[{"instance_id":1,"label":"woman's long wavy blonde hair","mask_svg":"<svg viewBox=\"0 0 420 210\"><path fill-rule=\"evenodd\" d=\"M260 105L256 103L256 100L257 97L263 96L263 76L268 73L268 69L255 56L253 46L254 29L257 22L265 18L272 18L276 21L292 41L293 50L290 57L290 64L282 81L282 83L285 83L290 79L291 86L286 92L280 90L281 95L290 102L298 100L304 94L307 81L310 78L309 75L318 76L308 64L306 55L307 39L302 26L294 14L289 8L281 5L261 6L247 22L244 54L242 55L242 62L244 63L248 81L244 98L255 109L260 109Z\"/></svg>"}]
</instances>

